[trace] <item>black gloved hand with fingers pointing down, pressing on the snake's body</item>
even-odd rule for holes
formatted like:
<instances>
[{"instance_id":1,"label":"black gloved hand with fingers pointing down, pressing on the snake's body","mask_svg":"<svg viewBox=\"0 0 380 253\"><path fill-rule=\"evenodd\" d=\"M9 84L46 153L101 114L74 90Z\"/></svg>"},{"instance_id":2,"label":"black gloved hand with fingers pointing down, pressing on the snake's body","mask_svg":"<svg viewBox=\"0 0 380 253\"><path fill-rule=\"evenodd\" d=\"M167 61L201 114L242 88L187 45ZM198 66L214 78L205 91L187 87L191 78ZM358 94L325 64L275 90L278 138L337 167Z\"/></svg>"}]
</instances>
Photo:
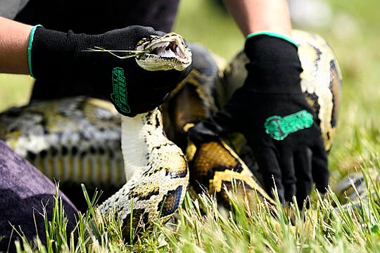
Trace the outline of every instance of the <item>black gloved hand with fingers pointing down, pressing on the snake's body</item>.
<instances>
[{"instance_id":1,"label":"black gloved hand with fingers pointing down, pressing on the snake's body","mask_svg":"<svg viewBox=\"0 0 380 253\"><path fill-rule=\"evenodd\" d=\"M250 63L243 86L224 109L189 130L195 143L241 132L255 154L265 183L274 182L281 202L295 195L302 207L312 184L324 193L329 181L327 153L316 116L300 89L297 47L267 35L247 39ZM273 182L274 179L274 182Z\"/></svg>"}]
</instances>

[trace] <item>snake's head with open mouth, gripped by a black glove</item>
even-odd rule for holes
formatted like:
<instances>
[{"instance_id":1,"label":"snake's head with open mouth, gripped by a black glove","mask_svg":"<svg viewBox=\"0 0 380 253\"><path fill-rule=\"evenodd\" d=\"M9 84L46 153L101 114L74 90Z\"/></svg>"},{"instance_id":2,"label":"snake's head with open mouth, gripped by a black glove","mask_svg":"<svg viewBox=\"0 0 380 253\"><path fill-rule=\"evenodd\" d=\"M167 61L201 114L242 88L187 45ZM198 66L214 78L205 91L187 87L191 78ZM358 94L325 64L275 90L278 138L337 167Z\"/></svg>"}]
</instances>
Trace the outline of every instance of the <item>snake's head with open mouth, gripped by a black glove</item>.
<instances>
[{"instance_id":1,"label":"snake's head with open mouth, gripped by a black glove","mask_svg":"<svg viewBox=\"0 0 380 253\"><path fill-rule=\"evenodd\" d=\"M170 32L163 36L151 35L137 44L137 64L144 70L185 70L191 64L191 50L181 35Z\"/></svg>"}]
</instances>

